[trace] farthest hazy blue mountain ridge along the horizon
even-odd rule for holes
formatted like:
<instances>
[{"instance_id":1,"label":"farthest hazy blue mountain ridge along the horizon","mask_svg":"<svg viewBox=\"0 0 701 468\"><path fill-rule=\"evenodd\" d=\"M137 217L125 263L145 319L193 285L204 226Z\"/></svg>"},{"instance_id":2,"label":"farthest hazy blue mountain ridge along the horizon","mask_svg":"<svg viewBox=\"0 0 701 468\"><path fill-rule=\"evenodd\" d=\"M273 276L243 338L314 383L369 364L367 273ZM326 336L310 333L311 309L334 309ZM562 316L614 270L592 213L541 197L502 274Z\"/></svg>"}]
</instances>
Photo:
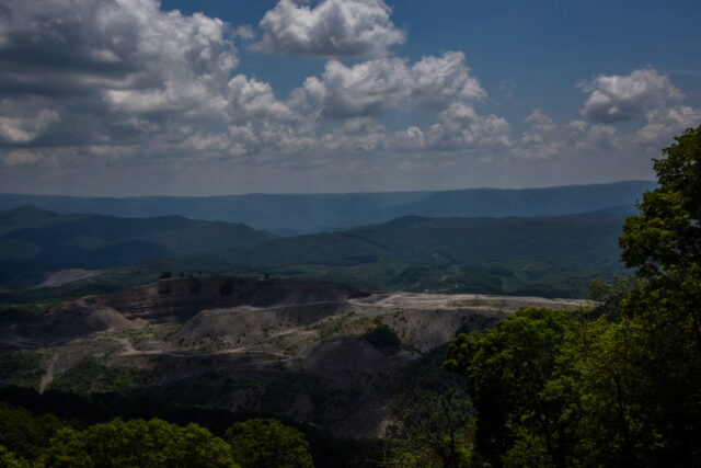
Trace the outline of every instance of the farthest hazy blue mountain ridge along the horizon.
<instances>
[{"instance_id":1,"label":"farthest hazy blue mountain ridge along the horizon","mask_svg":"<svg viewBox=\"0 0 701 468\"><path fill-rule=\"evenodd\" d=\"M634 210L652 181L565 185L548 189L468 189L348 194L249 194L207 197L129 198L0 194L0 209L34 205L60 214L92 213L148 218L242 222L286 235L340 230L402 216L508 217Z\"/></svg>"}]
</instances>

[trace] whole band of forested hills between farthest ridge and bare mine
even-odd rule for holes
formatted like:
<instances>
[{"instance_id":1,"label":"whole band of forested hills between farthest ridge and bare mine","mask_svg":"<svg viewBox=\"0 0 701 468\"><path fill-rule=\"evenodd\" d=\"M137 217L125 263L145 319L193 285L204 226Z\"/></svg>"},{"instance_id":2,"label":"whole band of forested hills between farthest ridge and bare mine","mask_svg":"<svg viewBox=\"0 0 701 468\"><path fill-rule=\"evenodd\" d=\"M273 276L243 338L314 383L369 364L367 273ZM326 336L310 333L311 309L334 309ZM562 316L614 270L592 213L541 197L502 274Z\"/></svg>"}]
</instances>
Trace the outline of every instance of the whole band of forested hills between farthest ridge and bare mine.
<instances>
[{"instance_id":1,"label":"whole band of forested hills between farthest ridge and bare mine","mask_svg":"<svg viewBox=\"0 0 701 468\"><path fill-rule=\"evenodd\" d=\"M0 303L105 293L197 270L209 274L273 271L276 276L297 271L309 278L417 292L583 297L597 272L620 272L616 239L624 218L610 214L405 217L341 232L277 239L240 225L183 218L156 222L156 218L56 215L51 219L31 229L15 226L0 236L0 244L12 240L43 252L15 260L3 260L0 252L0 285L33 286L46 274L68 267L115 270L58 288L2 293Z\"/></svg>"}]
</instances>

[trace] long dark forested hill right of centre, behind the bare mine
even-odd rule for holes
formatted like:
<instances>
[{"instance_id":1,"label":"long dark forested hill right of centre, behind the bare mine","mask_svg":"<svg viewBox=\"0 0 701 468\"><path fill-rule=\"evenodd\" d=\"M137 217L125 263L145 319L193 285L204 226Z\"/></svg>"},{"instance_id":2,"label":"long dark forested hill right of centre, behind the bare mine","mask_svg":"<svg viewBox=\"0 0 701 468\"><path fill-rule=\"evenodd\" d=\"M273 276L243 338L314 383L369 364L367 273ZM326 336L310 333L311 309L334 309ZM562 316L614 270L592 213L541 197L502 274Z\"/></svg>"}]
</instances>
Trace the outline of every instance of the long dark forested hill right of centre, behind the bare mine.
<instances>
[{"instance_id":1,"label":"long dark forested hill right of centre, behind the bare mine","mask_svg":"<svg viewBox=\"0 0 701 468\"><path fill-rule=\"evenodd\" d=\"M409 216L340 232L269 239L225 258L250 265L413 264L508 260L597 264L616 261L624 217L582 214L531 218L423 218Z\"/></svg>"}]
</instances>

